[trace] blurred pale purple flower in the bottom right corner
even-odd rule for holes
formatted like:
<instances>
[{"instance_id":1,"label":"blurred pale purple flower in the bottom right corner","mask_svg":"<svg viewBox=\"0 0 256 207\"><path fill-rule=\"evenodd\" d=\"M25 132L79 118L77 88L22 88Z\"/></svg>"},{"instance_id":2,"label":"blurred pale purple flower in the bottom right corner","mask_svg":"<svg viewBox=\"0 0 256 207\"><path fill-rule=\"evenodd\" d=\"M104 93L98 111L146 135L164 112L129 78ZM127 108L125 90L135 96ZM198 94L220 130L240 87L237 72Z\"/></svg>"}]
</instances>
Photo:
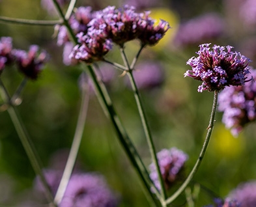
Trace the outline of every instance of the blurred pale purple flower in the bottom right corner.
<instances>
[{"instance_id":1,"label":"blurred pale purple flower in the bottom right corner","mask_svg":"<svg viewBox=\"0 0 256 207\"><path fill-rule=\"evenodd\" d=\"M240 202L240 207L255 207L256 206L256 182L246 182L240 184L236 189L229 193L231 199L236 199Z\"/></svg>"}]
</instances>

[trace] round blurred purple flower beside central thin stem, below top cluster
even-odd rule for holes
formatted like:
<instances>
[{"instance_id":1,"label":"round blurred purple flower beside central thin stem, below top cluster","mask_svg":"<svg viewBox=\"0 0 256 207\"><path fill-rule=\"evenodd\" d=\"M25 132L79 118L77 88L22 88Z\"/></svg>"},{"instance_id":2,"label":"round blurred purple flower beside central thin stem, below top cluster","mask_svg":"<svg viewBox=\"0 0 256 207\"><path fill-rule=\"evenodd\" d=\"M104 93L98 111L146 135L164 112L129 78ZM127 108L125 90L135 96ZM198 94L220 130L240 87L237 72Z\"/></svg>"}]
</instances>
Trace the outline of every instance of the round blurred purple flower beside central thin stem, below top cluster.
<instances>
[{"instance_id":1,"label":"round blurred purple flower beside central thin stem, below top cluster","mask_svg":"<svg viewBox=\"0 0 256 207\"><path fill-rule=\"evenodd\" d=\"M141 62L135 66L134 79L138 89L152 89L164 82L164 70L157 62ZM130 82L126 79L127 85Z\"/></svg>"}]
</instances>

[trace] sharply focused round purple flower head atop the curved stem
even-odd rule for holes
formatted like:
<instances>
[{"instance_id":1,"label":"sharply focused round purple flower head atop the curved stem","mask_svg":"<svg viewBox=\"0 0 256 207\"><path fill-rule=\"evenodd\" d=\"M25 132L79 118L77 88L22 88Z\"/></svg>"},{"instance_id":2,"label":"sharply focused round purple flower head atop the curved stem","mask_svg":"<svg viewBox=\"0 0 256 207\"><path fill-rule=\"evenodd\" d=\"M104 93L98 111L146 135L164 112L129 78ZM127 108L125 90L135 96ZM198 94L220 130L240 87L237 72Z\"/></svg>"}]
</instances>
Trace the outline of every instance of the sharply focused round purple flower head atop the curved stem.
<instances>
[{"instance_id":1,"label":"sharply focused round purple flower head atop the curved stem","mask_svg":"<svg viewBox=\"0 0 256 207\"><path fill-rule=\"evenodd\" d=\"M232 46L212 46L201 44L198 57L192 57L187 64L192 67L184 77L202 81L198 92L203 90L220 91L225 87L244 85L249 74L250 59L237 51L231 51Z\"/></svg>"}]
</instances>

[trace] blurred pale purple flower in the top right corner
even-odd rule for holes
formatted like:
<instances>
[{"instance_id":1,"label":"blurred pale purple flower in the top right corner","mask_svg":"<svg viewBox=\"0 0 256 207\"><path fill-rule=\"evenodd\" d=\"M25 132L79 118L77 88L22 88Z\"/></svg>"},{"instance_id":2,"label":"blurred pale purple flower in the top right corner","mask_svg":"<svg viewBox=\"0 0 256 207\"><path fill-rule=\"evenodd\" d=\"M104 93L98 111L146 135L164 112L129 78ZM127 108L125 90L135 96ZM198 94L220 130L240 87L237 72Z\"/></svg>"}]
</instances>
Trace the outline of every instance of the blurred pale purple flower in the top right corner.
<instances>
[{"instance_id":1,"label":"blurred pale purple flower in the top right corner","mask_svg":"<svg viewBox=\"0 0 256 207\"><path fill-rule=\"evenodd\" d=\"M255 26L256 24L256 1L246 0L242 3L240 8L240 16L244 23L249 26Z\"/></svg>"}]
</instances>

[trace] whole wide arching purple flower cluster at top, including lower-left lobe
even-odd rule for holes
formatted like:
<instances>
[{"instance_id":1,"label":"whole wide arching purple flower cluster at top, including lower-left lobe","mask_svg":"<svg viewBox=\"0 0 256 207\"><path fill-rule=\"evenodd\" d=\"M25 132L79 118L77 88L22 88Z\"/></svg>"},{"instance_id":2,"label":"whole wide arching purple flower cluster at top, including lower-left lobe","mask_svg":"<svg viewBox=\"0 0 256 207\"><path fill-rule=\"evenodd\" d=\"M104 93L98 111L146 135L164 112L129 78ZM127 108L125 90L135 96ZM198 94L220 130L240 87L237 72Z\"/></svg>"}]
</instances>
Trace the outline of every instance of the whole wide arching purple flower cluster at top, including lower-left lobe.
<instances>
[{"instance_id":1,"label":"whole wide arching purple flower cluster at top, including lower-left lobe","mask_svg":"<svg viewBox=\"0 0 256 207\"><path fill-rule=\"evenodd\" d=\"M134 7L127 5L123 8L109 6L94 12L94 18L85 25L87 31L78 33L79 44L72 50L70 59L89 64L100 61L112 48L113 43L123 46L134 39L140 40L143 46L156 44L169 29L169 24L164 20L156 24L156 20L150 18L149 13L136 13ZM63 38L59 39L62 40L58 41L59 44L66 39L64 35L60 36Z\"/></svg>"}]
</instances>

